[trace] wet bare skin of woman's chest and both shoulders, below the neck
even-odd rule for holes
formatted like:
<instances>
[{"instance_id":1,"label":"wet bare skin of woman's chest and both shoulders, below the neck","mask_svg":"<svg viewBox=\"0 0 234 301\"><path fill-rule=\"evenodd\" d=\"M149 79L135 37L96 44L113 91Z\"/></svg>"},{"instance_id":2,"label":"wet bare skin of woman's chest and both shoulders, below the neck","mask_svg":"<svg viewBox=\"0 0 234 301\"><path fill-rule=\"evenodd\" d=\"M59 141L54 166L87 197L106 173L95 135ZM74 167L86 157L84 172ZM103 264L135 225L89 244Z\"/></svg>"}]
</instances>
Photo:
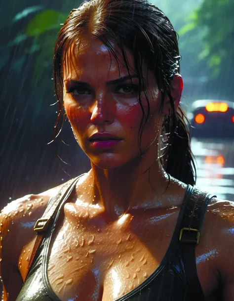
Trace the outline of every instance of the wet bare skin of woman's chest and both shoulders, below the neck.
<instances>
[{"instance_id":1,"label":"wet bare skin of woman's chest and both shoulders, below the neck","mask_svg":"<svg viewBox=\"0 0 234 301\"><path fill-rule=\"evenodd\" d=\"M48 265L49 282L58 297L62 301L89 301L96 294L100 296L97 300L114 301L144 281L168 248L183 198L184 185L179 184L172 181L168 207L133 210L111 222L101 208L86 207L74 192L57 224ZM78 191L85 192L82 181ZM3 211L1 263L9 293L8 299L3 300L13 301L19 294L36 239L33 224L41 217L49 197L57 192L53 188L19 199ZM224 300L232 300L233 215L233 203L213 199L204 218L195 254L197 274L207 300L217 300L214 292L221 282L225 287ZM9 250L13 252L9 254ZM113 282L118 283L117 290Z\"/></svg>"}]
</instances>

